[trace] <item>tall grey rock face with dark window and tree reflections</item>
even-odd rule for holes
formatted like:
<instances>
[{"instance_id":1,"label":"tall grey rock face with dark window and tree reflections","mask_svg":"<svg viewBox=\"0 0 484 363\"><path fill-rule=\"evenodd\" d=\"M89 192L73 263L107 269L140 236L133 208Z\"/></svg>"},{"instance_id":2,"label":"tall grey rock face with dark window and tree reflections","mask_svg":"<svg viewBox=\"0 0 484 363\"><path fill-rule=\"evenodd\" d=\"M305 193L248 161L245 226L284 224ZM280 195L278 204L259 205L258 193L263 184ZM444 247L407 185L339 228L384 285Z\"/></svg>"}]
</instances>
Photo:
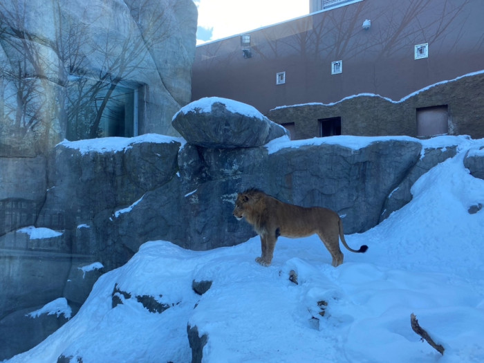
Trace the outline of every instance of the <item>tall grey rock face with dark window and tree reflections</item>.
<instances>
[{"instance_id":1,"label":"tall grey rock face with dark window and tree reflections","mask_svg":"<svg viewBox=\"0 0 484 363\"><path fill-rule=\"evenodd\" d=\"M192 0L6 0L0 17L0 156L46 153L66 137L178 135Z\"/></svg>"}]
</instances>

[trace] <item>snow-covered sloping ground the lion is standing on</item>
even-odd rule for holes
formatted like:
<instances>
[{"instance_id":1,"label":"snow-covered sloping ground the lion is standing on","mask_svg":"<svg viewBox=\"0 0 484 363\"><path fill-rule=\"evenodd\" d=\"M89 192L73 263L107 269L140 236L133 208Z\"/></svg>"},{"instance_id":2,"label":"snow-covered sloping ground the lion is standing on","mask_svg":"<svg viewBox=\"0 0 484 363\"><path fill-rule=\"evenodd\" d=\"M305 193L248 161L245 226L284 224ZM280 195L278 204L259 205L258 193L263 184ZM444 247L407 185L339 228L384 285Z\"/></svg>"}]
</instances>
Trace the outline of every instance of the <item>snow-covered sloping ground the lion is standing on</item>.
<instances>
[{"instance_id":1,"label":"snow-covered sloping ground the lion is standing on","mask_svg":"<svg viewBox=\"0 0 484 363\"><path fill-rule=\"evenodd\" d=\"M463 165L467 149L482 145L463 139L457 156L413 185L411 203L347 235L369 250L343 250L338 268L315 236L280 238L269 268L254 262L258 237L207 252L151 241L102 275L67 324L8 362L56 362L62 353L84 363L190 362L187 324L208 335L210 363L484 362L484 209L468 212L484 204L484 180ZM212 287L196 295L194 279ZM123 304L112 308L116 283L131 297L118 294ZM142 295L170 307L150 313ZM411 313L444 355L413 333Z\"/></svg>"}]
</instances>

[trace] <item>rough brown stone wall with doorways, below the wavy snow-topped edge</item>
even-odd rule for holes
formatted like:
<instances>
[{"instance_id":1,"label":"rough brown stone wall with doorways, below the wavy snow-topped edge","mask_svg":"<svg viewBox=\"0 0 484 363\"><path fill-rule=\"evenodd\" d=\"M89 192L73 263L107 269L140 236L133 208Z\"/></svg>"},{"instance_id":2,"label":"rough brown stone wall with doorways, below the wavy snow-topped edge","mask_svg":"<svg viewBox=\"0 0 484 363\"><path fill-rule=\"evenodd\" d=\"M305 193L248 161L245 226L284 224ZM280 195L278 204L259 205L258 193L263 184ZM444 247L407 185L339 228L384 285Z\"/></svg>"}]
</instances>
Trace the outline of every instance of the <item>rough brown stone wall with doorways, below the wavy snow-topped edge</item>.
<instances>
[{"instance_id":1,"label":"rough brown stone wall with doorways, below the wavy snow-topped edge","mask_svg":"<svg viewBox=\"0 0 484 363\"><path fill-rule=\"evenodd\" d=\"M416 137L417 111L434 106L447 106L447 133L484 138L484 73L436 85L401 102L362 95L333 105L277 108L268 118L293 123L291 138L295 140L321 136L319 120L328 118L341 118L342 135Z\"/></svg>"}]
</instances>

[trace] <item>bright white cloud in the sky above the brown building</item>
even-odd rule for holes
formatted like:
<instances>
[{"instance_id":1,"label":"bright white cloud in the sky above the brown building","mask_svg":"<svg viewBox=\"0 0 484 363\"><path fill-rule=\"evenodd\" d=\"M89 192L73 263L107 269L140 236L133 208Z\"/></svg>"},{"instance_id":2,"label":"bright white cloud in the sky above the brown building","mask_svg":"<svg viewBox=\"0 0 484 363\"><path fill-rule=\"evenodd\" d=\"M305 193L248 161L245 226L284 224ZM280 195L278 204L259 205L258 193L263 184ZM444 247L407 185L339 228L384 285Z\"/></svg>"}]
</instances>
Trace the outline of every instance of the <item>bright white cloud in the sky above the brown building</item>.
<instances>
[{"instance_id":1,"label":"bright white cloud in the sky above the brown building","mask_svg":"<svg viewBox=\"0 0 484 363\"><path fill-rule=\"evenodd\" d=\"M221 39L309 13L307 0L196 0L198 26Z\"/></svg>"}]
</instances>

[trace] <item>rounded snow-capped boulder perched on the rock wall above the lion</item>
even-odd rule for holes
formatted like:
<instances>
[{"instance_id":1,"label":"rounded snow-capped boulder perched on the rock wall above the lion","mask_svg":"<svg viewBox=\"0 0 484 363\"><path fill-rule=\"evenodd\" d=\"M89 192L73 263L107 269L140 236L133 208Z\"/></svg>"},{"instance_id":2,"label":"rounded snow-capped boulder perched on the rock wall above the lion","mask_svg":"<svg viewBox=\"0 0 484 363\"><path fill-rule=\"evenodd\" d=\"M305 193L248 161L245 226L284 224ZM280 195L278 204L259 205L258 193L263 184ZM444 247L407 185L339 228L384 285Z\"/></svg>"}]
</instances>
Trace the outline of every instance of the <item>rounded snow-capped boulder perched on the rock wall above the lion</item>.
<instances>
[{"instance_id":1,"label":"rounded snow-capped boulder perched on the rock wall above the lion","mask_svg":"<svg viewBox=\"0 0 484 363\"><path fill-rule=\"evenodd\" d=\"M221 149L258 147L288 135L254 107L220 97L187 104L174 116L173 127L189 144Z\"/></svg>"}]
</instances>

